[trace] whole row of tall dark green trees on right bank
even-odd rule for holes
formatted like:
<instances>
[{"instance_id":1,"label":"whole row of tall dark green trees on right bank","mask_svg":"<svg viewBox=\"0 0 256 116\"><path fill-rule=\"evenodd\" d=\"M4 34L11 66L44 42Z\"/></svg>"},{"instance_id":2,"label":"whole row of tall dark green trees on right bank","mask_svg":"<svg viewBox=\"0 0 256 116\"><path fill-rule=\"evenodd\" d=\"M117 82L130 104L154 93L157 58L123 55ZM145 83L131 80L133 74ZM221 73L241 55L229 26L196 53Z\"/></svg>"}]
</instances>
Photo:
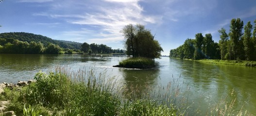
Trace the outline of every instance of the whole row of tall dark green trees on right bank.
<instances>
[{"instance_id":1,"label":"whole row of tall dark green trees on right bank","mask_svg":"<svg viewBox=\"0 0 256 116\"><path fill-rule=\"evenodd\" d=\"M219 29L219 43L212 40L210 33L197 33L195 39L187 39L183 45L171 49L172 58L256 60L256 20L253 26L249 21L243 26L240 18L230 21L229 33ZM244 29L244 32L242 30Z\"/></svg>"}]
</instances>

